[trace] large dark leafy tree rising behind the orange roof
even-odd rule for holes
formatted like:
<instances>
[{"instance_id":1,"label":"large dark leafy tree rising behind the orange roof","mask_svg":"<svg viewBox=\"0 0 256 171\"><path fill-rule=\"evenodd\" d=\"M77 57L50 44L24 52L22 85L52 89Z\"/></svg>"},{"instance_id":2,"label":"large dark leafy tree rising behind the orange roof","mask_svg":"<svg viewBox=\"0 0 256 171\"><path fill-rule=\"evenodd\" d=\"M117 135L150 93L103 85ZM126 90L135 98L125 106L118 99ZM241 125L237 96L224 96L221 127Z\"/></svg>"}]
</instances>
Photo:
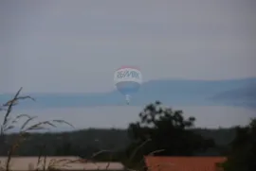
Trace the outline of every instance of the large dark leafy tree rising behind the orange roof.
<instances>
[{"instance_id":1,"label":"large dark leafy tree rising behind the orange roof","mask_svg":"<svg viewBox=\"0 0 256 171\"><path fill-rule=\"evenodd\" d=\"M158 101L140 112L139 118L139 122L128 128L133 143L128 147L127 155L134 161L152 153L192 156L214 146L213 140L192 131L194 117L185 119L182 111L164 108Z\"/></svg>"}]
</instances>

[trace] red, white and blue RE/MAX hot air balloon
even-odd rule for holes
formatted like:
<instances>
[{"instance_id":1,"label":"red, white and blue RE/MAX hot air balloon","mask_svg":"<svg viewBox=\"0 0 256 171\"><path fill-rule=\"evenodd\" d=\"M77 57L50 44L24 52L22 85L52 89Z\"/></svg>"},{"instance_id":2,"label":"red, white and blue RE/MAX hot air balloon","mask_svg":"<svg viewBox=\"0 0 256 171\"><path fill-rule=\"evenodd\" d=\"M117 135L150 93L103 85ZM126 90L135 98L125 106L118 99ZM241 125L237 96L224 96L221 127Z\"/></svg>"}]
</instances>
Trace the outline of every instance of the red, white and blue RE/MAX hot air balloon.
<instances>
[{"instance_id":1,"label":"red, white and blue RE/MAX hot air balloon","mask_svg":"<svg viewBox=\"0 0 256 171\"><path fill-rule=\"evenodd\" d=\"M136 94L140 87L142 76L138 68L122 66L115 72L114 81L119 93L125 96L129 105L131 95Z\"/></svg>"}]
</instances>

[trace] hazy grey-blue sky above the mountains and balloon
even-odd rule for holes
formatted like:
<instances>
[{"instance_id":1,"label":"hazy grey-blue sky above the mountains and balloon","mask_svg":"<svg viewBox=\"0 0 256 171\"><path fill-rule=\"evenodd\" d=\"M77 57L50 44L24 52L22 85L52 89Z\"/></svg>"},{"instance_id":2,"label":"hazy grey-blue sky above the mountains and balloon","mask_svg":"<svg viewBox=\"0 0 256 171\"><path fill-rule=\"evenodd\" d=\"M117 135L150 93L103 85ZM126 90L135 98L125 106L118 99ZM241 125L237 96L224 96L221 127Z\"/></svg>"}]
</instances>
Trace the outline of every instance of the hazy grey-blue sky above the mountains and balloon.
<instances>
[{"instance_id":1,"label":"hazy grey-blue sky above the mountains and balloon","mask_svg":"<svg viewBox=\"0 0 256 171\"><path fill-rule=\"evenodd\" d=\"M0 94L113 89L146 80L256 77L253 0L0 1Z\"/></svg>"}]
</instances>

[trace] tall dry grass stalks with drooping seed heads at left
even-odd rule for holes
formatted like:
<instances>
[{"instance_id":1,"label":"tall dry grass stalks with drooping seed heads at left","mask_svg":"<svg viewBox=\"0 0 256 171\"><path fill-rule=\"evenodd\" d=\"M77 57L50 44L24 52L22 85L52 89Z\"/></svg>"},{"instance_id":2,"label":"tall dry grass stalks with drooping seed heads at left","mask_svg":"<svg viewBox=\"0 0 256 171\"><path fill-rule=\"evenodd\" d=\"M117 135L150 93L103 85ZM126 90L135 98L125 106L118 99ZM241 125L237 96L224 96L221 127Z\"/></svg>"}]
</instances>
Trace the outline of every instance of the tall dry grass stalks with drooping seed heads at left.
<instances>
[{"instance_id":1,"label":"tall dry grass stalks with drooping seed heads at left","mask_svg":"<svg viewBox=\"0 0 256 171\"><path fill-rule=\"evenodd\" d=\"M73 127L72 125L65 122L64 120L50 120L50 121L36 122L35 124L30 124L31 121L35 120L36 117L31 117L27 114L19 114L15 117L12 117L11 111L13 107L20 102L20 100L24 100L24 99L34 100L32 97L28 95L20 95L21 91L22 91L22 88L17 92L17 94L14 95L12 99L10 99L7 103L0 106L0 111L5 112L4 120L0 129L0 149L3 153L7 152L6 154L4 154L4 156L7 156L6 162L0 163L0 170L3 170L3 171L10 170L10 161L12 159L12 156L17 155L16 154L17 149L20 147L20 145L22 145L27 140L27 138L30 135L29 133L30 131L42 130L42 129L46 129L47 127L56 128L56 125L55 125L56 123L66 124L68 126ZM11 145L7 145L7 139L6 139L7 131L15 128L16 124L23 118L25 118L25 121L22 124L19 133L16 134L14 141L11 142ZM5 151L5 150L8 150L8 151ZM38 156L38 163L37 163L36 169L44 169L44 170L54 169L53 165L55 164L55 162L58 162L58 161L50 162L49 165L46 165L46 163L44 163L44 161L46 161L46 156L43 158L42 157L43 157L42 155Z\"/></svg>"}]
</instances>

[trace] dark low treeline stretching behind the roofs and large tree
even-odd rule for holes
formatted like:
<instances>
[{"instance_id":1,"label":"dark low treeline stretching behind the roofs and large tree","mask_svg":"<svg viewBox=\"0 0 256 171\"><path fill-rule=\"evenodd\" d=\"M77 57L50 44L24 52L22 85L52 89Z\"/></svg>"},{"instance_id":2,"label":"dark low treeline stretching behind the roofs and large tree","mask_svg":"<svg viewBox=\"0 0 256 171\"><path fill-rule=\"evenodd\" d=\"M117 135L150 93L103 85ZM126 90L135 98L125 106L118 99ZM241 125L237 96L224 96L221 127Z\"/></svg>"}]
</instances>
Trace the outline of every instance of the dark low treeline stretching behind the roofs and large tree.
<instances>
[{"instance_id":1,"label":"dark low treeline stretching behind the roofs and large tree","mask_svg":"<svg viewBox=\"0 0 256 171\"><path fill-rule=\"evenodd\" d=\"M211 138L217 145L203 154L221 155L229 147L235 137L235 128L193 128L192 131L203 137ZM5 137L5 147L0 155L6 155L9 146L15 141L16 135L9 134ZM61 133L31 133L26 142L16 151L15 155L37 156L44 152L50 156L81 156L89 157L100 150L119 152L132 142L126 129L101 129L89 128Z\"/></svg>"}]
</instances>

